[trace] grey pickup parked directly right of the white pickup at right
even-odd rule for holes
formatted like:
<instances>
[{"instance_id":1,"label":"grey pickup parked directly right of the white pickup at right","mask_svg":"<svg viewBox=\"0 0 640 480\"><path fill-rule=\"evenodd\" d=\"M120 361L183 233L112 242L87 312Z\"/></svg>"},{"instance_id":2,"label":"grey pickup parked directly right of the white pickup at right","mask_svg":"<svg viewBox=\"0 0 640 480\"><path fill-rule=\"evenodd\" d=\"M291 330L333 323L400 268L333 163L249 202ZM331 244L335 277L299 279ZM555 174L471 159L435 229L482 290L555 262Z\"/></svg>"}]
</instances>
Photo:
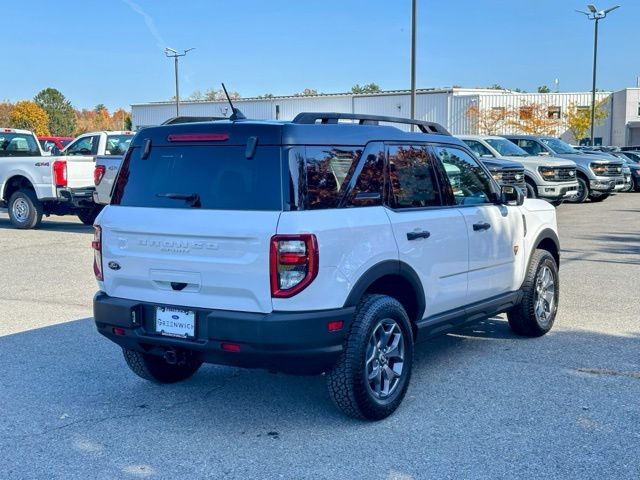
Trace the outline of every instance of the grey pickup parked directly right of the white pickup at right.
<instances>
[{"instance_id":1,"label":"grey pickup parked directly right of the white pickup at right","mask_svg":"<svg viewBox=\"0 0 640 480\"><path fill-rule=\"evenodd\" d=\"M505 135L530 155L554 156L576 163L578 193L567 199L582 203L587 198L601 202L625 187L622 161L589 155L574 149L559 138L535 135Z\"/></svg>"}]
</instances>

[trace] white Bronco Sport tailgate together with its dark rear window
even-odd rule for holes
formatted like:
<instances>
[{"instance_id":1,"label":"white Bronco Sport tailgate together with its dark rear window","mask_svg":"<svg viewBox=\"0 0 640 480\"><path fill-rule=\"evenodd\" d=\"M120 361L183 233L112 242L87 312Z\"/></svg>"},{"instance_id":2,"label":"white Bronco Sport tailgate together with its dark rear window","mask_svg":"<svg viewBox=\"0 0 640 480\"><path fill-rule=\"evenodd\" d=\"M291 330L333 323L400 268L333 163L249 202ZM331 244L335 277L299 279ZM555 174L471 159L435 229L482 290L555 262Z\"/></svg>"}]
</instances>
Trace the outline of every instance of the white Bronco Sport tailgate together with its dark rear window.
<instances>
[{"instance_id":1,"label":"white Bronco Sport tailgate together with its dark rear window","mask_svg":"<svg viewBox=\"0 0 640 480\"><path fill-rule=\"evenodd\" d=\"M246 135L174 137L176 130L145 129L152 141L139 139L120 168L111 205L99 217L101 288L158 305L270 312L270 242L283 202L280 146L262 136L247 157Z\"/></svg>"}]
</instances>

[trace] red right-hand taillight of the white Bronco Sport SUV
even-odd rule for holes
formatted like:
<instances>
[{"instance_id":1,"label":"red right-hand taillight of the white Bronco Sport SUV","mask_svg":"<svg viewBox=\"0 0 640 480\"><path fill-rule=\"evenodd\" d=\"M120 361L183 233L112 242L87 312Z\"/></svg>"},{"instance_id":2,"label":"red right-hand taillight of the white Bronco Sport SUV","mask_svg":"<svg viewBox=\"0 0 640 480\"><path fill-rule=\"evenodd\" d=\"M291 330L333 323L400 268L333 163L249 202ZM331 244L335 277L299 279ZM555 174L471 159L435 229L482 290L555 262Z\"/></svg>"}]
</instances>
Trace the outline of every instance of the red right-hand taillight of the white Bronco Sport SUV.
<instances>
[{"instance_id":1,"label":"red right-hand taillight of the white Bronco Sport SUV","mask_svg":"<svg viewBox=\"0 0 640 480\"><path fill-rule=\"evenodd\" d=\"M289 298L304 290L318 274L315 235L271 237L271 296Z\"/></svg>"}]
</instances>

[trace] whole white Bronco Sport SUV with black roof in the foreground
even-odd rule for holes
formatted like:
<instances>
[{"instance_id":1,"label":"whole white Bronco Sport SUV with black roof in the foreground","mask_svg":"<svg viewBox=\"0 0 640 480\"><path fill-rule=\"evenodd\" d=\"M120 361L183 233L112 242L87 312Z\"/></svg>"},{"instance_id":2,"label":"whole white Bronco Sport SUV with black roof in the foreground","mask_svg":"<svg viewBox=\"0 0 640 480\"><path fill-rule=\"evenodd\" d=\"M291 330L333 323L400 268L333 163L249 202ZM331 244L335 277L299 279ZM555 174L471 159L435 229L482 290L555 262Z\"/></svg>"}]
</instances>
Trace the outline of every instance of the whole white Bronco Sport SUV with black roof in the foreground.
<instances>
[{"instance_id":1,"label":"whole white Bronco Sport SUV with black roof in the foreground","mask_svg":"<svg viewBox=\"0 0 640 480\"><path fill-rule=\"evenodd\" d=\"M326 372L345 413L381 419L416 341L501 312L518 334L551 329L555 210L523 198L428 122L147 128L95 225L95 322L145 379Z\"/></svg>"}]
</instances>

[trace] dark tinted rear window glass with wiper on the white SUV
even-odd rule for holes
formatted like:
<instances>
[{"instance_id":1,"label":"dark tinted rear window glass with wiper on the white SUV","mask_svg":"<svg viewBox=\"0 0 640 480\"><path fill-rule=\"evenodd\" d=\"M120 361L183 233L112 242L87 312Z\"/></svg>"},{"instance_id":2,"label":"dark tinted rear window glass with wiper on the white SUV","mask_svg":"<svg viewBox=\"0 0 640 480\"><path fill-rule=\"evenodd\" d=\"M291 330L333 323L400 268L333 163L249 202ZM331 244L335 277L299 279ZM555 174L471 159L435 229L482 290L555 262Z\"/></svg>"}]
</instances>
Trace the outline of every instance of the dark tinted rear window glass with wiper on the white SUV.
<instances>
[{"instance_id":1,"label":"dark tinted rear window glass with wiper on the white SUV","mask_svg":"<svg viewBox=\"0 0 640 480\"><path fill-rule=\"evenodd\" d=\"M280 148L263 146L251 160L244 146L135 148L122 165L112 204L209 210L281 210Z\"/></svg>"}]
</instances>

